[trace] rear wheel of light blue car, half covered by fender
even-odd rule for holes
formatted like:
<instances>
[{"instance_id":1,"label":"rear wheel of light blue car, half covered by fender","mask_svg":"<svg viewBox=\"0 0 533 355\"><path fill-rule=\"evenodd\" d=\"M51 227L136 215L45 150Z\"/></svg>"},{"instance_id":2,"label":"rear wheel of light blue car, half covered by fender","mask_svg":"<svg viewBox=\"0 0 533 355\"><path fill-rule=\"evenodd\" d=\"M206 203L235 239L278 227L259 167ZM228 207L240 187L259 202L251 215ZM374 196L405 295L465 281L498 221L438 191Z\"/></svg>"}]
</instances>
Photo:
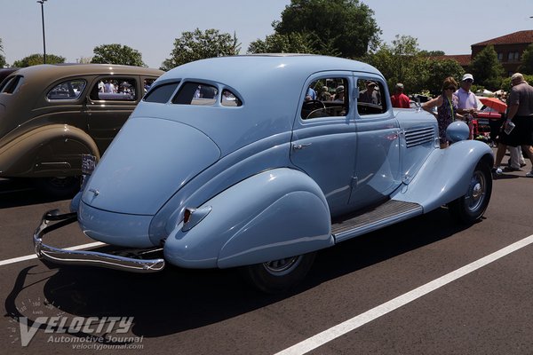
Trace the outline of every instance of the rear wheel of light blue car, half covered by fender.
<instances>
[{"instance_id":1,"label":"rear wheel of light blue car, half covered by fender","mask_svg":"<svg viewBox=\"0 0 533 355\"><path fill-rule=\"evenodd\" d=\"M244 278L260 291L275 294L296 286L311 269L316 252L243 266Z\"/></svg>"}]
</instances>

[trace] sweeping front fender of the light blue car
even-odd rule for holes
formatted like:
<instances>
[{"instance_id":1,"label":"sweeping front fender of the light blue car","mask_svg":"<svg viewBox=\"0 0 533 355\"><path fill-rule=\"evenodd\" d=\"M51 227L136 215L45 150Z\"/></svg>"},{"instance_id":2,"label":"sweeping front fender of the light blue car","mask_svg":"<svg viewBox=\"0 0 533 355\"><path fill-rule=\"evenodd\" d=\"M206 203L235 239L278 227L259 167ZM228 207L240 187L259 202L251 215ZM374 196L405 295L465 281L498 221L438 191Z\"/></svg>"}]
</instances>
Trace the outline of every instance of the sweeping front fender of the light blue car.
<instances>
[{"instance_id":1,"label":"sweeping front fender of the light blue car","mask_svg":"<svg viewBox=\"0 0 533 355\"><path fill-rule=\"evenodd\" d=\"M476 140L435 149L409 184L403 184L391 198L418 203L425 213L437 209L465 195L478 162L491 167L494 156L488 145Z\"/></svg>"}]
</instances>

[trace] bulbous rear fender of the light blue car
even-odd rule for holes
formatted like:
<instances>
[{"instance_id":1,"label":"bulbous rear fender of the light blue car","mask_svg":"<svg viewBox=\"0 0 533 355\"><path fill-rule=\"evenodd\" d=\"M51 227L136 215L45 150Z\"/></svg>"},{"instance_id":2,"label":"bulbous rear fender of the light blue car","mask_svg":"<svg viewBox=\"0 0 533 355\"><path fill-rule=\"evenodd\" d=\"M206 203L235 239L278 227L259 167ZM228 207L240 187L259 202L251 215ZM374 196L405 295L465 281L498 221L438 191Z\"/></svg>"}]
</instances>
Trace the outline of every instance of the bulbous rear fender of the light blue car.
<instances>
[{"instance_id":1,"label":"bulbous rear fender of the light blue car","mask_svg":"<svg viewBox=\"0 0 533 355\"><path fill-rule=\"evenodd\" d=\"M209 210L211 208L211 210ZM164 243L165 260L182 267L258 264L333 245L327 201L311 177L267 170L233 185L198 208Z\"/></svg>"}]
</instances>

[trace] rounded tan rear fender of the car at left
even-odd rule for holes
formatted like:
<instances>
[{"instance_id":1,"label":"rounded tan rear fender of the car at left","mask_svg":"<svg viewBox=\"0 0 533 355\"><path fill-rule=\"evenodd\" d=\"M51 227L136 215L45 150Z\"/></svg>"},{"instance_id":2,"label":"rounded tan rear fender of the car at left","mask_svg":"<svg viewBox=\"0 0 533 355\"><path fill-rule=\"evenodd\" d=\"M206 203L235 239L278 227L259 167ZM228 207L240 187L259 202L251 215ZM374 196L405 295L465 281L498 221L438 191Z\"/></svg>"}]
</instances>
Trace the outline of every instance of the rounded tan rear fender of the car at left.
<instances>
[{"instance_id":1,"label":"rounded tan rear fender of the car at left","mask_svg":"<svg viewBox=\"0 0 533 355\"><path fill-rule=\"evenodd\" d=\"M82 154L99 159L98 147L84 130L68 124L45 125L0 146L0 176L80 175Z\"/></svg>"}]
</instances>

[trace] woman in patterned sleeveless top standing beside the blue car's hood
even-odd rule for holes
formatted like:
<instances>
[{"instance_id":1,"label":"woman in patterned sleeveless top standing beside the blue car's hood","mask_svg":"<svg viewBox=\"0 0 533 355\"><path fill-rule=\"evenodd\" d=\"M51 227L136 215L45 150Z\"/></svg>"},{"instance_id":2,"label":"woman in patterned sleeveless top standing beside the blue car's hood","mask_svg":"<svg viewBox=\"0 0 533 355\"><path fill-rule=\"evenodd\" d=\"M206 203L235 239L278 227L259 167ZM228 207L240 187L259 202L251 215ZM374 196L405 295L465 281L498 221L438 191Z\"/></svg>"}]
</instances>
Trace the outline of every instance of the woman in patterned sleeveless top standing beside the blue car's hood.
<instances>
[{"instance_id":1,"label":"woman in patterned sleeveless top standing beside the blue car's hood","mask_svg":"<svg viewBox=\"0 0 533 355\"><path fill-rule=\"evenodd\" d=\"M435 99L430 99L422 105L422 108L434 114L439 124L439 140L441 143L441 149L449 146L448 139L446 138L446 129L449 123L453 122L456 117L463 118L460 114L457 114L457 96L454 91L457 90L456 80L449 76L444 79L442 83L442 94ZM434 112L434 107L437 106L437 112Z\"/></svg>"}]
</instances>

